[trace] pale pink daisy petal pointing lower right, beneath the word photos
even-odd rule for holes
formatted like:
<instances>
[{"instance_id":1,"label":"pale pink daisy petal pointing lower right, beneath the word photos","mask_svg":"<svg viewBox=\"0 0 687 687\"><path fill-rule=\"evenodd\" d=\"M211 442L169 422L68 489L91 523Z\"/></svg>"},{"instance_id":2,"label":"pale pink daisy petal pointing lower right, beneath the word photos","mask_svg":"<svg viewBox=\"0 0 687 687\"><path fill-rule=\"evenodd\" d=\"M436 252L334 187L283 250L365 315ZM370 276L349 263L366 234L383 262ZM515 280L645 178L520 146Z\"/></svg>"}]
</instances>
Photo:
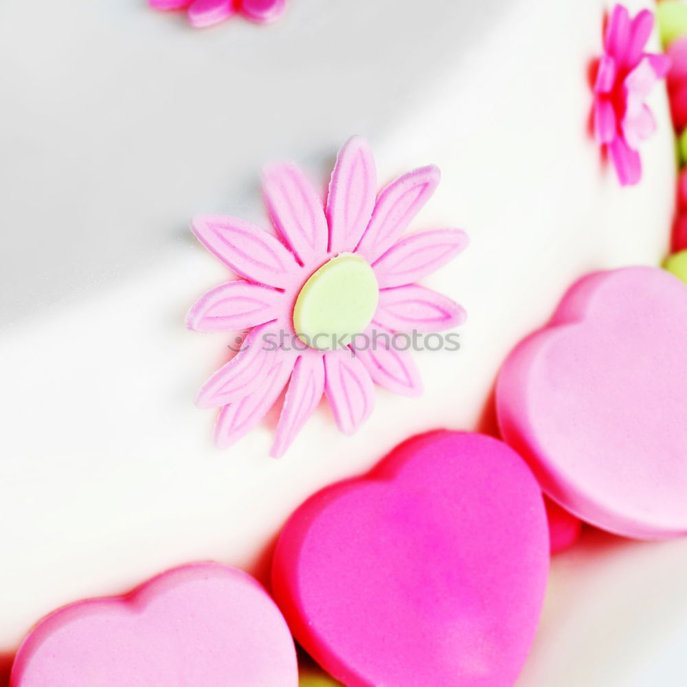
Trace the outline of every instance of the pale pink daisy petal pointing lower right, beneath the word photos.
<instances>
[{"instance_id":1,"label":"pale pink daisy petal pointing lower right, beneath the word photos","mask_svg":"<svg viewBox=\"0 0 687 687\"><path fill-rule=\"evenodd\" d=\"M423 383L412 355L394 348L390 332L371 327L367 335L369 345L356 347L354 351L370 373L372 381L394 394L420 396Z\"/></svg>"}]
</instances>

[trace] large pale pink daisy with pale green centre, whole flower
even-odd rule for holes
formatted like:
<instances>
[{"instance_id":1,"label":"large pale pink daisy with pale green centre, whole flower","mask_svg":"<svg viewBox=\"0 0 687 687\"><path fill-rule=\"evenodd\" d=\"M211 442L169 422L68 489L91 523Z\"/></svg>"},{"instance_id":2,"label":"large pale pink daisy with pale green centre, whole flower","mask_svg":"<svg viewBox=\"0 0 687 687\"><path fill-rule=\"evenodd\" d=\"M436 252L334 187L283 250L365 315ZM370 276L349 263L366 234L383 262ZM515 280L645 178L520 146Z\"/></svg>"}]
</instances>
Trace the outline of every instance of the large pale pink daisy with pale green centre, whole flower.
<instances>
[{"instance_id":1,"label":"large pale pink daisy with pale green centre, whole flower","mask_svg":"<svg viewBox=\"0 0 687 687\"><path fill-rule=\"evenodd\" d=\"M218 446L254 427L284 387L275 457L323 394L339 429L353 433L372 412L375 383L407 396L421 393L408 352L412 337L438 337L465 318L458 304L415 283L462 251L464 232L433 229L401 238L439 176L436 167L423 167L377 195L372 153L354 137L339 152L326 203L294 164L264 171L275 235L233 217L194 218L196 238L239 278L203 295L188 313L188 327L247 333L199 394L200 407L221 407Z\"/></svg>"}]
</instances>

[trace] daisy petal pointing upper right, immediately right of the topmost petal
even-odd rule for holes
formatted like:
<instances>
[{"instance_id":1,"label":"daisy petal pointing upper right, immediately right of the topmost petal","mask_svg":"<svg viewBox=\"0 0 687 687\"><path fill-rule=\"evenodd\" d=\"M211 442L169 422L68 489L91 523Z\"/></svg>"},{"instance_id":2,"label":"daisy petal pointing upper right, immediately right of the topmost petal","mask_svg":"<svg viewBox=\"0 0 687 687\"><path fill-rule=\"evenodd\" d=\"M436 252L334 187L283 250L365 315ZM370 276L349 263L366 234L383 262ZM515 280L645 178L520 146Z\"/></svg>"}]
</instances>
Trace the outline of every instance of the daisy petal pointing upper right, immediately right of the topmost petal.
<instances>
[{"instance_id":1,"label":"daisy petal pointing upper right, immediately right of the topmost petal","mask_svg":"<svg viewBox=\"0 0 687 687\"><path fill-rule=\"evenodd\" d=\"M440 177L438 168L422 167L387 185L379 194L357 252L374 262L390 249L431 198Z\"/></svg>"}]
</instances>

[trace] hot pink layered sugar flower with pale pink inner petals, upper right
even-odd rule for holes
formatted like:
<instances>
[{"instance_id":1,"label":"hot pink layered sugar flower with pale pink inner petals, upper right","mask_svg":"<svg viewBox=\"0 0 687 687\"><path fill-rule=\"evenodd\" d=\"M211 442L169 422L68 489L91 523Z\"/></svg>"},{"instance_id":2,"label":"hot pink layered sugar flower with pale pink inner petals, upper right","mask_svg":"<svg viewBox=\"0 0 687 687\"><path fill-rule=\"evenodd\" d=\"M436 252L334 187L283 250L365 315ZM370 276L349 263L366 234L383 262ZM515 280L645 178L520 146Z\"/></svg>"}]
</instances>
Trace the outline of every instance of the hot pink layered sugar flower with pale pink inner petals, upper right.
<instances>
[{"instance_id":1,"label":"hot pink layered sugar flower with pale pink inner petals, upper right","mask_svg":"<svg viewBox=\"0 0 687 687\"><path fill-rule=\"evenodd\" d=\"M670 60L644 52L653 29L653 14L642 10L633 19L616 5L606 27L605 52L594 84L594 135L607 146L622 185L638 183L642 161L638 148L656 123L644 100L666 76Z\"/></svg>"}]
</instances>

